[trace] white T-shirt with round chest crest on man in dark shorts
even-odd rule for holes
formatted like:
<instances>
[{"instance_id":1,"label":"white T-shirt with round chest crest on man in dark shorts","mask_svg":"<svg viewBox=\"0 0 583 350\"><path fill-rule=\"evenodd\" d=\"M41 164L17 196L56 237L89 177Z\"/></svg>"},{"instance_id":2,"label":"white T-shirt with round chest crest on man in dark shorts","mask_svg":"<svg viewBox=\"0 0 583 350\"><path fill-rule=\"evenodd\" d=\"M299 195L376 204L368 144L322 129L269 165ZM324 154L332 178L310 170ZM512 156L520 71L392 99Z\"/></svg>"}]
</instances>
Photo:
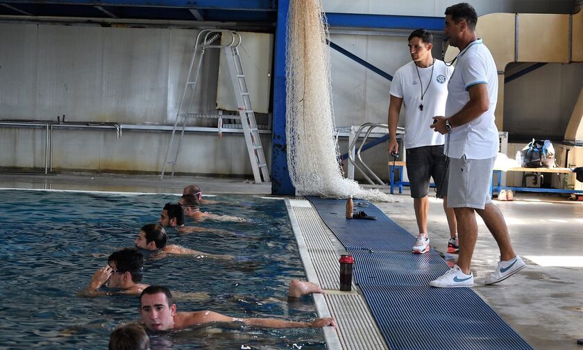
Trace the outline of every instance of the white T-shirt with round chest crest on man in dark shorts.
<instances>
[{"instance_id":1,"label":"white T-shirt with round chest crest on man in dark shorts","mask_svg":"<svg viewBox=\"0 0 583 350\"><path fill-rule=\"evenodd\" d=\"M419 69L419 75L417 70ZM445 115L448 84L453 67L435 60L430 67L416 67L413 61L397 69L390 94L403 99L405 107L405 149L443 144L443 135L430 128L433 117ZM421 83L419 82L421 76ZM429 83L431 81L431 83ZM421 86L423 85L423 101ZM427 92L425 92L427 89ZM423 110L419 105L423 104Z\"/></svg>"}]
</instances>

